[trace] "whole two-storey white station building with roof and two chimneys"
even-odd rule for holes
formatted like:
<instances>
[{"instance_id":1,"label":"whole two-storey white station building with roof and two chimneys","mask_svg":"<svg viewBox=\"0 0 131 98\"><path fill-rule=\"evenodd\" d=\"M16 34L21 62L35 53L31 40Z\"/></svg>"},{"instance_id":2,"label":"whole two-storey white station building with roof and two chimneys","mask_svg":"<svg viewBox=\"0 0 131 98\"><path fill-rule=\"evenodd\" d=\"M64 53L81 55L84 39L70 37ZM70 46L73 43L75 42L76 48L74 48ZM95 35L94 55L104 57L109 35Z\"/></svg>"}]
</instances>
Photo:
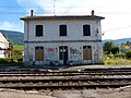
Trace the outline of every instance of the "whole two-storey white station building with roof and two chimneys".
<instances>
[{"instance_id":1,"label":"whole two-storey white station building with roof and two chimneys","mask_svg":"<svg viewBox=\"0 0 131 98\"><path fill-rule=\"evenodd\" d=\"M103 16L34 15L24 21L24 64L103 63Z\"/></svg>"}]
</instances>

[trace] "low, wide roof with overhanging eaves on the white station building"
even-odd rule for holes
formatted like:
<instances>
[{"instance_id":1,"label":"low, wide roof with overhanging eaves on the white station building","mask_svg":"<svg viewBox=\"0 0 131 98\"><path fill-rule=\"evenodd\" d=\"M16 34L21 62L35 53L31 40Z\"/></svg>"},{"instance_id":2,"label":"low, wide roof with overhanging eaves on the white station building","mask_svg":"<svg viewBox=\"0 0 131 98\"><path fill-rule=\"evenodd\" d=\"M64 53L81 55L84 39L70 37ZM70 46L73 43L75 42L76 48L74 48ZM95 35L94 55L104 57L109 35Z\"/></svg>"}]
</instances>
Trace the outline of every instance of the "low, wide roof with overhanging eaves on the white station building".
<instances>
[{"instance_id":1,"label":"low, wide roof with overhanging eaves on the white station building","mask_svg":"<svg viewBox=\"0 0 131 98\"><path fill-rule=\"evenodd\" d=\"M28 20L104 20L103 16L97 15L48 15L48 16L25 16L20 20L28 21Z\"/></svg>"}]
</instances>

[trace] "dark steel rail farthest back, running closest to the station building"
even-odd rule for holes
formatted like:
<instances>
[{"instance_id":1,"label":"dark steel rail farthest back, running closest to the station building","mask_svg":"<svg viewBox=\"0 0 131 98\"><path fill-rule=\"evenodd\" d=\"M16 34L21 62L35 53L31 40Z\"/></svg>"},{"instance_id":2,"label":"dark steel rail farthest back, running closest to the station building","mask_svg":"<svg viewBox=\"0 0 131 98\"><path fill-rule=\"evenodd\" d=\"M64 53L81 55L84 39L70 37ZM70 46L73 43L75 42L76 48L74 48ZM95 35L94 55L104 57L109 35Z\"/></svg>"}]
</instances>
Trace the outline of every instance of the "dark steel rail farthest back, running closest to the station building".
<instances>
[{"instance_id":1,"label":"dark steel rail farthest back, running closest to the station building","mask_svg":"<svg viewBox=\"0 0 131 98\"><path fill-rule=\"evenodd\" d=\"M117 69L84 69L84 70L80 70L80 73L83 73L83 72L131 72L131 68L117 68ZM0 74L1 73L76 73L79 71L53 71L51 70L48 71L48 70L4 70L4 71L0 71Z\"/></svg>"}]
</instances>

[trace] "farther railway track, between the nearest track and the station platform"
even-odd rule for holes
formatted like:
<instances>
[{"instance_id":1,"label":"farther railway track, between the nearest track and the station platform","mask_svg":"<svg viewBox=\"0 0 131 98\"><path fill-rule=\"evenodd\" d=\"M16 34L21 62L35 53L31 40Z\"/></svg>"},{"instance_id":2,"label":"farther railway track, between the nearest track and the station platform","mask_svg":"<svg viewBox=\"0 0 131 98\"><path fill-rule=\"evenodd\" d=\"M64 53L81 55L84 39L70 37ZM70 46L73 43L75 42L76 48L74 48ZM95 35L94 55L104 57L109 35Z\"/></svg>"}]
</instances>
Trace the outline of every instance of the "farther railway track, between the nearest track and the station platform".
<instances>
[{"instance_id":1,"label":"farther railway track, between the nearest track and the station platform","mask_svg":"<svg viewBox=\"0 0 131 98\"><path fill-rule=\"evenodd\" d=\"M76 76L76 75L131 75L130 71L53 71L53 72L0 72L0 76Z\"/></svg>"}]
</instances>

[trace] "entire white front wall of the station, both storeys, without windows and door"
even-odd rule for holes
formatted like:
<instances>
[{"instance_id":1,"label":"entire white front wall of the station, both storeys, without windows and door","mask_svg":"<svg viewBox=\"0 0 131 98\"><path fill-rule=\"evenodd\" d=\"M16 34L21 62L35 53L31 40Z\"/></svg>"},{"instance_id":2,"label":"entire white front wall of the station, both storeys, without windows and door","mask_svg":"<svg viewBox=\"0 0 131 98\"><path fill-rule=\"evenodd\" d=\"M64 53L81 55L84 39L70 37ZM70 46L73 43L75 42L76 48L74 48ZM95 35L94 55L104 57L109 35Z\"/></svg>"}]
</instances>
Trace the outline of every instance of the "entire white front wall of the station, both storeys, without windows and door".
<instances>
[{"instance_id":1,"label":"entire white front wall of the station, both storeys, without windows and door","mask_svg":"<svg viewBox=\"0 0 131 98\"><path fill-rule=\"evenodd\" d=\"M59 25L67 25L68 36L59 36ZM91 25L91 36L83 36L83 25ZM35 26L44 25L44 36L35 36ZM97 33L98 32L98 33ZM102 63L100 21L31 21L25 22L25 64L50 64L59 60L59 47L68 47L69 61L74 64ZM67 40L67 41L63 41ZM28 42L27 42L28 41ZM35 47L44 47L44 61L35 61ZM83 46L92 46L92 60L83 60ZM76 51L73 54L71 50ZM28 62L29 61L29 62Z\"/></svg>"}]
</instances>

